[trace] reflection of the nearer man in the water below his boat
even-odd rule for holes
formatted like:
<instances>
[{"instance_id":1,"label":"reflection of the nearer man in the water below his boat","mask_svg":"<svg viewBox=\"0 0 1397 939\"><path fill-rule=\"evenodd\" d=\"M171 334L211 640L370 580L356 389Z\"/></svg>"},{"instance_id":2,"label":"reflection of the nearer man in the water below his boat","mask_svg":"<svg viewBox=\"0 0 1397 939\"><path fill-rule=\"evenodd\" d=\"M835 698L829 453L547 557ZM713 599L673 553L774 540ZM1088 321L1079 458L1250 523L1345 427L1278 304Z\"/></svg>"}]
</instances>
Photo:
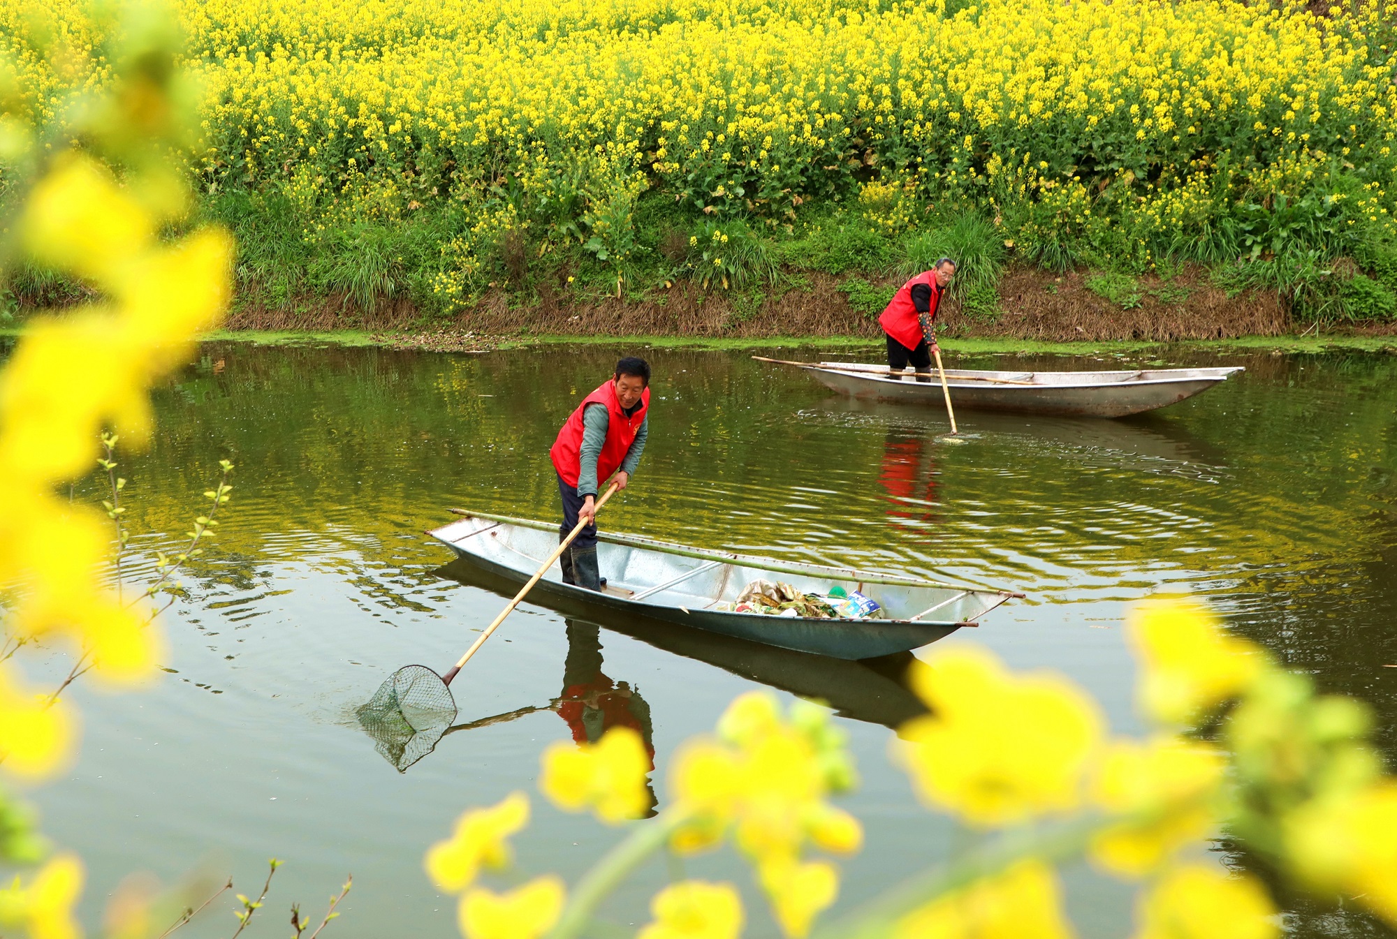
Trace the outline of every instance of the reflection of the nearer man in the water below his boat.
<instances>
[{"instance_id":1,"label":"reflection of the nearer man in the water below his boat","mask_svg":"<svg viewBox=\"0 0 1397 939\"><path fill-rule=\"evenodd\" d=\"M650 704L640 692L626 682L613 682L602 674L601 629L592 623L567 625L567 661L563 665L563 694L557 706L559 715L567 721L573 739L578 743L595 743L602 734L613 727L629 727L640 734L650 757L651 771L655 769L654 728L650 724ZM655 789L645 781L650 791L650 812L658 803Z\"/></svg>"}]
</instances>

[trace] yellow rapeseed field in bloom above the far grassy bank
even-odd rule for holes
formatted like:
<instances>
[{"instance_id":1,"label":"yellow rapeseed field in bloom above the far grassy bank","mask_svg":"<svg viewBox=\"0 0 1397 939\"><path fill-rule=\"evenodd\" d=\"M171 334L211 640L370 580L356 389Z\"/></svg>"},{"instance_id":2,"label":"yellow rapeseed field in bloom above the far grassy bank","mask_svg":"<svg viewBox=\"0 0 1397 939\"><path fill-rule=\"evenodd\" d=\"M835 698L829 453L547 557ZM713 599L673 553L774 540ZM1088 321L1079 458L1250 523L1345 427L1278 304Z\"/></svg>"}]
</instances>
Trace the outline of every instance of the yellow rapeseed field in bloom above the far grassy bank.
<instances>
[{"instance_id":1,"label":"yellow rapeseed field in bloom above the far grassy bank","mask_svg":"<svg viewBox=\"0 0 1397 939\"><path fill-rule=\"evenodd\" d=\"M1380 6L1334 18L1236 0L179 6L203 82L205 191L285 191L313 217L307 238L337 198L360 217L464 207L441 246L447 292L509 229L539 252L585 243L619 270L647 193L771 231L859 184L909 182L922 198L1044 205L1025 245L1125 225L1144 247L1112 250L1139 254L1204 238L1221 205L1329 187L1317 211L1359 229L1338 236L1397 235ZM66 68L25 46L41 24L71 46ZM102 80L102 25L77 0L10 0L0 29L41 115ZM898 212L870 221L912 221Z\"/></svg>"}]
</instances>

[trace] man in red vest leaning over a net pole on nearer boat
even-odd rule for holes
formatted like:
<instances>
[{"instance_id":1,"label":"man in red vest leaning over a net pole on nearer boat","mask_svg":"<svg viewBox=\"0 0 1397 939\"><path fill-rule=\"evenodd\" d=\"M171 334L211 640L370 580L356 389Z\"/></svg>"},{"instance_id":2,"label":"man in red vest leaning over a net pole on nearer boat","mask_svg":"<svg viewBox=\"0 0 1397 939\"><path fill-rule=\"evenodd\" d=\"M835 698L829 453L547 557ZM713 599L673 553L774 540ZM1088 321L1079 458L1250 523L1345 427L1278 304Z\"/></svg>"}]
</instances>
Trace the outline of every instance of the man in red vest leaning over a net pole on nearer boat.
<instances>
[{"instance_id":1,"label":"man in red vest leaning over a net pole on nearer boat","mask_svg":"<svg viewBox=\"0 0 1397 939\"><path fill-rule=\"evenodd\" d=\"M612 377L588 394L557 432L548 456L557 471L557 492L563 497L559 541L578 520L588 521L559 559L564 584L602 588L597 569L597 489L612 474L619 488L626 488L648 435L650 365L637 358L617 362Z\"/></svg>"}]
</instances>

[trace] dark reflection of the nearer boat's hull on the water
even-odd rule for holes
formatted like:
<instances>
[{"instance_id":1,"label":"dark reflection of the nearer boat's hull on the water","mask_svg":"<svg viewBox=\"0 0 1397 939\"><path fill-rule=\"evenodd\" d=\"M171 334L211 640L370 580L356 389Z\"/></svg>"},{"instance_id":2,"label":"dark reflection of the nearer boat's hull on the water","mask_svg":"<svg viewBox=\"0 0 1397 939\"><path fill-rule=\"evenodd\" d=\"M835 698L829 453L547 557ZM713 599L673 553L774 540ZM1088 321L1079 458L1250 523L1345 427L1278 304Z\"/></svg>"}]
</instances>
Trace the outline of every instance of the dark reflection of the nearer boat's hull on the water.
<instances>
[{"instance_id":1,"label":"dark reflection of the nearer boat's hull on the water","mask_svg":"<svg viewBox=\"0 0 1397 939\"><path fill-rule=\"evenodd\" d=\"M510 597L517 590L513 580L483 570L464 559L453 560L437 569L436 574L471 587L482 587L502 597ZM629 611L612 611L605 616L598 616L595 622L666 653L717 665L733 675L800 697L821 700L841 717L895 729L905 721L926 713L921 699L904 685L904 676L912 664L911 653L855 662L752 643L689 626L676 626ZM574 629L580 625L576 619L569 622L570 662L574 657ZM598 651L597 672L599 674L599 671L601 654ZM571 665L569 674L573 674ZM648 727L648 707L644 708L644 714Z\"/></svg>"}]
</instances>

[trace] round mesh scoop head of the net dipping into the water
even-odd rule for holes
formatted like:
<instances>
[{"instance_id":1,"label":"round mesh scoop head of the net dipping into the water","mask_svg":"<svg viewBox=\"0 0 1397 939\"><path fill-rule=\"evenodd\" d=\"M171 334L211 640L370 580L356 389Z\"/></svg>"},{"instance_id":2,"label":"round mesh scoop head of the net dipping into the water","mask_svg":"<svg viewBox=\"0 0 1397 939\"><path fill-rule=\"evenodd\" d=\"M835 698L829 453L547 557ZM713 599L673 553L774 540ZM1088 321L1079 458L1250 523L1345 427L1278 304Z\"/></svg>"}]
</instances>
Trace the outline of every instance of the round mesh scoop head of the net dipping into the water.
<instances>
[{"instance_id":1,"label":"round mesh scoop head of the net dipping into the water","mask_svg":"<svg viewBox=\"0 0 1397 939\"><path fill-rule=\"evenodd\" d=\"M432 752L455 720L455 699L426 665L407 665L388 676L356 711L373 746L398 773Z\"/></svg>"}]
</instances>

